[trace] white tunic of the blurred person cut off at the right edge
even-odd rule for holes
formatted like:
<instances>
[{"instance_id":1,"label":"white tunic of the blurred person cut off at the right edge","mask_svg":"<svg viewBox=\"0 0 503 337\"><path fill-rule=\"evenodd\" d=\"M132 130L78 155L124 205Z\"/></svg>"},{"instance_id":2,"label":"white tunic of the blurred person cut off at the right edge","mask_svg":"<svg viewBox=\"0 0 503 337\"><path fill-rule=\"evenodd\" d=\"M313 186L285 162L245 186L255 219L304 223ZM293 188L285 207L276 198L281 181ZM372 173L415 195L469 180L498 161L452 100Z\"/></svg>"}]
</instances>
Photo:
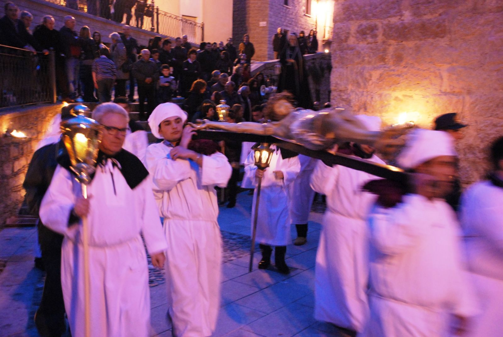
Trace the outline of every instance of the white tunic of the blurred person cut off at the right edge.
<instances>
[{"instance_id":1,"label":"white tunic of the blurred person cut off at the right edge","mask_svg":"<svg viewBox=\"0 0 503 337\"><path fill-rule=\"evenodd\" d=\"M503 322L503 188L476 183L461 203L468 268L480 303L468 336L500 337Z\"/></svg>"}]
</instances>

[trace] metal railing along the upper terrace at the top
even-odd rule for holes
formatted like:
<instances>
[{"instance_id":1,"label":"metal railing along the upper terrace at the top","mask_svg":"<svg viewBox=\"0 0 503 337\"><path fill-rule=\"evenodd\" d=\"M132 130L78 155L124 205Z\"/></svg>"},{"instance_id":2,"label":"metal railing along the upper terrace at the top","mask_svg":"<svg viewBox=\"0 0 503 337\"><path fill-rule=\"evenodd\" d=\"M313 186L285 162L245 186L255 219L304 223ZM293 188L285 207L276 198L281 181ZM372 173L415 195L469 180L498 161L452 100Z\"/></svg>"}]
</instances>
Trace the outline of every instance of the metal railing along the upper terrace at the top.
<instances>
[{"instance_id":1,"label":"metal railing along the upper terrace at the top","mask_svg":"<svg viewBox=\"0 0 503 337\"><path fill-rule=\"evenodd\" d=\"M88 0L46 0L52 4L66 6L76 9L81 12L97 15L101 18L110 19L120 23L127 24L131 27L141 28L150 32L155 32L172 37L181 37L187 35L187 40L192 43L201 43L204 40L204 24L193 20L188 20L174 14L170 14L159 10L158 7L145 7L143 14L137 13L136 4L129 12L129 9L124 9L122 18L117 19L111 13L112 6L108 9L100 9L101 2L93 0L93 5L96 6L93 10L88 8ZM130 13L130 14L129 14ZM128 15L129 14L129 15ZM149 16L147 16L147 14ZM129 19L129 22L128 22Z\"/></svg>"}]
</instances>

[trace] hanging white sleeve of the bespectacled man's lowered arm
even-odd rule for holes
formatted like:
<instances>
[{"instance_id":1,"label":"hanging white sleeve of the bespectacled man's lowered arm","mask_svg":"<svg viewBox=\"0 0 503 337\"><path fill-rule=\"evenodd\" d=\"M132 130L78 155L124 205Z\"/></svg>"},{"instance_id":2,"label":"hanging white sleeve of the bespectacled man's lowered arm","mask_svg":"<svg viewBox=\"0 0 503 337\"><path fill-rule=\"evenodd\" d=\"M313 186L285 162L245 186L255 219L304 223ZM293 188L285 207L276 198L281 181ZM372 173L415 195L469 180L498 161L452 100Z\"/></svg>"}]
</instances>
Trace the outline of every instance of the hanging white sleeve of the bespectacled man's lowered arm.
<instances>
[{"instance_id":1,"label":"hanging white sleeve of the bespectacled man's lowered arm","mask_svg":"<svg viewBox=\"0 0 503 337\"><path fill-rule=\"evenodd\" d=\"M152 193L150 179L144 179L136 188L143 194L143 212L141 233L149 254L155 254L167 249L166 237L162 231L159 211Z\"/></svg>"}]
</instances>

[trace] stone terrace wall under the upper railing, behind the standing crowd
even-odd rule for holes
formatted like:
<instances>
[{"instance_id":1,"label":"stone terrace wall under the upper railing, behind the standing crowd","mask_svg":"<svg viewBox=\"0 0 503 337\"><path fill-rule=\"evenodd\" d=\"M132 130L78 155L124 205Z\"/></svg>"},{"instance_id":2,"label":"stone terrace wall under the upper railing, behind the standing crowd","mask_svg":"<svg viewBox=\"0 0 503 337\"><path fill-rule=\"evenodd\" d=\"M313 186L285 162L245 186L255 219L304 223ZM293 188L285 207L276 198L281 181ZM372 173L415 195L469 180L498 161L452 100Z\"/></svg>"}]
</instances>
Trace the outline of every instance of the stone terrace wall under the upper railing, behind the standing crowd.
<instances>
[{"instance_id":1,"label":"stone terrace wall under the upper railing, behind the standing crowd","mask_svg":"<svg viewBox=\"0 0 503 337\"><path fill-rule=\"evenodd\" d=\"M0 6L2 9L4 8L5 3L7 3L6 0L0 0ZM52 15L54 17L54 20L56 21L56 26L54 28L57 30L63 27L63 18L67 15L71 15L77 22L75 26L75 30L77 32L82 26L88 26L91 33L99 31L102 35L102 41L109 43L112 42L108 37L110 33L119 32L122 27L121 24L118 24L115 21L75 11L44 0L17 0L15 3L18 5L20 11L28 11L33 15L33 22L30 27L32 31L42 22L42 18L46 15ZM165 37L165 35L152 33L136 27L131 27L131 35L138 41L138 44L145 46L148 44L148 39L156 35Z\"/></svg>"}]
</instances>

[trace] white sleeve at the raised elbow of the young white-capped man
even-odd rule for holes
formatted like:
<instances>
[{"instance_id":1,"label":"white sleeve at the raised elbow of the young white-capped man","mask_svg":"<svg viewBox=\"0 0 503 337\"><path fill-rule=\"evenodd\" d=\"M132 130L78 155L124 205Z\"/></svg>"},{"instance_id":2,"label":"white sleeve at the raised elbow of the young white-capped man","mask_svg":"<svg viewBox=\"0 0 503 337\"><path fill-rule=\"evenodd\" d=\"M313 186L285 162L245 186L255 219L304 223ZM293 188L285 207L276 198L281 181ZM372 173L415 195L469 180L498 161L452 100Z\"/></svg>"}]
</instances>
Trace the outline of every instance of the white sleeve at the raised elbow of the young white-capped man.
<instances>
[{"instance_id":1,"label":"white sleeve at the raised elbow of the young white-capped man","mask_svg":"<svg viewBox=\"0 0 503 337\"><path fill-rule=\"evenodd\" d=\"M232 174L229 160L220 152L211 156L203 156L203 165L200 168L201 185L226 187Z\"/></svg>"}]
</instances>

